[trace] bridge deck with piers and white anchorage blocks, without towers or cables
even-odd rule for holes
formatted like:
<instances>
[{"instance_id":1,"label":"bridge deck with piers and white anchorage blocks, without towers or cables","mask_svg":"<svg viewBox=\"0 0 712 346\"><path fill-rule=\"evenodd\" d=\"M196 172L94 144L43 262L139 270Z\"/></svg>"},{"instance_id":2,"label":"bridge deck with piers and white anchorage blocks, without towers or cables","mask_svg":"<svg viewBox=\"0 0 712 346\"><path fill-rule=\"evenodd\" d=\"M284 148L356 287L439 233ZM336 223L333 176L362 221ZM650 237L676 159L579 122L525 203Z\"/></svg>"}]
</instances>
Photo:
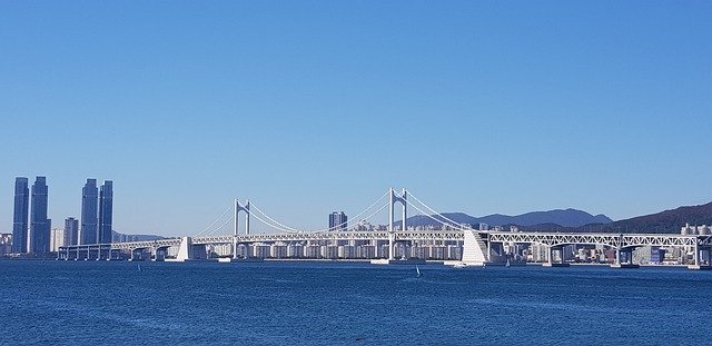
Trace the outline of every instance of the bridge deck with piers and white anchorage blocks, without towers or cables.
<instances>
[{"instance_id":1,"label":"bridge deck with piers and white anchorage blocks, without towers or cables","mask_svg":"<svg viewBox=\"0 0 712 346\"><path fill-rule=\"evenodd\" d=\"M194 254L205 254L206 246L233 246L234 258L237 259L237 247L254 244L329 244L337 241L365 241L366 244L384 244L388 247L385 260L395 260L393 248L398 244L417 241L454 243L463 247L461 261L464 265L482 266L496 261L498 250L503 245L543 245L548 249L548 263L545 266L562 266L555 263L554 253L562 251L567 245L600 245L615 250L613 267L632 265L632 251L637 247L683 247L691 249L694 264L691 269L706 268L701 265L702 258L710 258L712 253L712 236L709 235L668 235L668 234L562 234L536 231L478 231L473 229L455 230L408 230L408 231L324 231L324 233L285 233L259 235L221 235L167 238L150 241L129 241L115 244L92 244L66 246L58 253L58 259L110 259L119 258L118 254L127 254L128 258L136 258L137 251L150 250L151 256L160 249L178 247L175 260L191 260L199 258ZM706 255L706 256L704 256ZM378 257L375 257L378 258ZM374 259L375 259L374 258ZM563 258L558 256L558 258ZM627 260L627 263L626 263Z\"/></svg>"}]
</instances>

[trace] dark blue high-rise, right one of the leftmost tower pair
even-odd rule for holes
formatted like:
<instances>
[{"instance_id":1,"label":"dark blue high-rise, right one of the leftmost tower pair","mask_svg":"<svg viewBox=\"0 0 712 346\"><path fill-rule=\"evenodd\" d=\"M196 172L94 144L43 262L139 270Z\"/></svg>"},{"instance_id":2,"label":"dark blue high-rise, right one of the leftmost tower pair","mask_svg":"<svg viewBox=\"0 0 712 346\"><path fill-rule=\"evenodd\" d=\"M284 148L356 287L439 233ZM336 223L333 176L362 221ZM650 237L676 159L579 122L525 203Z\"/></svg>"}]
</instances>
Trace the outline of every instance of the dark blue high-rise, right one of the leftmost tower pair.
<instances>
[{"instance_id":1,"label":"dark blue high-rise, right one of the leftmost tower pair","mask_svg":"<svg viewBox=\"0 0 712 346\"><path fill-rule=\"evenodd\" d=\"M51 220L47 218L47 178L37 177L32 185L32 208L30 209L30 253L50 251Z\"/></svg>"}]
</instances>

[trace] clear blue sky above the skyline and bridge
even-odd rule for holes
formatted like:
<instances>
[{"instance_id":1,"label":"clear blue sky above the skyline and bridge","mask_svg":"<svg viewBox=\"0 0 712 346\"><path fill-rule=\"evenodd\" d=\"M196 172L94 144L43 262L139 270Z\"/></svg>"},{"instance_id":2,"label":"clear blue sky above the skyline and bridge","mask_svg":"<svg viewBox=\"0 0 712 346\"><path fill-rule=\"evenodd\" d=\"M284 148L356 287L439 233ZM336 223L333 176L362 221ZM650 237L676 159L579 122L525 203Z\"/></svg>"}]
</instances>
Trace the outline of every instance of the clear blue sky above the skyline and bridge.
<instances>
[{"instance_id":1,"label":"clear blue sky above the skyline and bridge","mask_svg":"<svg viewBox=\"0 0 712 346\"><path fill-rule=\"evenodd\" d=\"M2 1L0 231L191 235L234 198L323 228L389 187L474 216L712 200L710 1Z\"/></svg>"}]
</instances>

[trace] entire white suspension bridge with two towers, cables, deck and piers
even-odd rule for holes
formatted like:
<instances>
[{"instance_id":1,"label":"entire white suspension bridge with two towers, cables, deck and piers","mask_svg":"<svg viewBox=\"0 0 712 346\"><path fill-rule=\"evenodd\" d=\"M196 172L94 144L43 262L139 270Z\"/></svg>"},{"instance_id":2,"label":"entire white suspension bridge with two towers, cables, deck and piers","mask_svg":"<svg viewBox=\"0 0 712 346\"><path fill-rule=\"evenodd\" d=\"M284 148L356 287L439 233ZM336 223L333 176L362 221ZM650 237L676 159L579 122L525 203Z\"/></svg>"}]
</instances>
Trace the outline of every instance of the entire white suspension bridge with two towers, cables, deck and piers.
<instances>
[{"instance_id":1,"label":"entire white suspension bridge with two towers, cables, deck and piers","mask_svg":"<svg viewBox=\"0 0 712 346\"><path fill-rule=\"evenodd\" d=\"M383 201L383 202L382 202ZM380 207L378 207L380 205ZM400 225L395 225L395 209L399 205L402 208ZM520 233L520 231L490 231L474 230L469 225L461 225L442 212L435 211L415 197L412 192L403 189L396 192L388 189L380 198L354 218L367 220L382 210L388 208L388 225L385 230L346 230L346 221L340 225L330 225L327 229L304 231L286 226L273 217L261 211L257 206L247 200L240 204L237 199L222 212L220 218L208 226L202 231L190 237L168 238L151 241L129 241L113 244L89 244L72 245L61 247L58 251L58 259L111 259L127 257L137 258L144 251L150 251L152 259L158 259L158 254L167 248L178 248L172 260L190 260L196 258L207 258L209 247L231 247L233 259L250 257L238 254L238 249L246 249L251 245L338 245L340 243L359 244L365 248L358 258L380 259L382 263L396 260L396 247L403 245L439 244L449 247L462 248L459 258L454 263L458 266L483 266L502 258L501 250L504 245L530 244L545 246L547 249L546 266L565 266L561 260L554 263L554 253L558 253L558 258L563 259L563 247L567 245L596 245L615 250L615 259L612 266L633 266L632 251L636 247L684 247L693 253L693 261L689 266L692 269L712 268L710 266L710 253L712 248L712 236L710 235L664 235L664 234L561 234L561 233ZM407 210L414 208L421 215L426 216L442 226L445 230L413 230L406 225ZM369 210L376 209L370 212ZM233 233L230 235L216 235L216 230L208 233L214 226L219 224L222 217L233 210L233 216L222 226L233 221ZM238 231L238 219L240 212L245 214L245 230ZM370 215L368 215L370 212ZM366 216L368 215L368 216ZM250 234L250 217L268 226L273 231L264 234ZM447 230L449 229L449 230ZM703 256L701 256L703 255ZM288 256L287 256L288 257ZM306 256L308 257L308 256ZM345 256L347 257L347 256ZM424 259L424 258L421 258ZM701 266L706 259L706 266Z\"/></svg>"}]
</instances>

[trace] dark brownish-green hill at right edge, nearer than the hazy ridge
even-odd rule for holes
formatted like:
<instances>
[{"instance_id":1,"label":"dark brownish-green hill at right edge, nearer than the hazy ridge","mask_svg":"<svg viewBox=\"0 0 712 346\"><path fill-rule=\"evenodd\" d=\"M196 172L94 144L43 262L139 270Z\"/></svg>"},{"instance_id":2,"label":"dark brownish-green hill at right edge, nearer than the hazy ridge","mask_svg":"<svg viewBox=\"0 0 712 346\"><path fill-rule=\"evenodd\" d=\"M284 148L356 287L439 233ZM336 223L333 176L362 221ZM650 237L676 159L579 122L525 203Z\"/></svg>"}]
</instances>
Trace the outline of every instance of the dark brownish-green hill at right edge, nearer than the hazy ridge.
<instances>
[{"instance_id":1,"label":"dark brownish-green hill at right edge, nearer than the hazy ridge","mask_svg":"<svg viewBox=\"0 0 712 346\"><path fill-rule=\"evenodd\" d=\"M686 206L657 214L639 216L607 225L587 225L580 227L583 231L605 233L664 233L680 234L685 224L692 226L712 225L712 202L700 206Z\"/></svg>"}]
</instances>

